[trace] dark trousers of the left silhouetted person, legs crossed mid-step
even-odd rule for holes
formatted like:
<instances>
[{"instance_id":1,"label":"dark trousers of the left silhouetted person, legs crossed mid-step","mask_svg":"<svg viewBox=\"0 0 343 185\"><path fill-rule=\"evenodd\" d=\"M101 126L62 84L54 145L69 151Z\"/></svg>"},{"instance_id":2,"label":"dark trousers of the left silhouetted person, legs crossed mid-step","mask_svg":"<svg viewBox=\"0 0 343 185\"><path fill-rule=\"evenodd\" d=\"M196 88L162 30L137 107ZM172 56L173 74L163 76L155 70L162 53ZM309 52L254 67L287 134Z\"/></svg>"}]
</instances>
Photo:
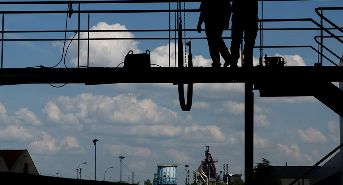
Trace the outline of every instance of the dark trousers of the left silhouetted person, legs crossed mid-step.
<instances>
[{"instance_id":1,"label":"dark trousers of the left silhouetted person, legs crossed mid-step","mask_svg":"<svg viewBox=\"0 0 343 185\"><path fill-rule=\"evenodd\" d=\"M209 44L210 56L212 58L212 66L221 66L220 55L224 60L229 60L230 52L227 49L222 38L223 28L209 27L205 25L207 42Z\"/></svg>"}]
</instances>

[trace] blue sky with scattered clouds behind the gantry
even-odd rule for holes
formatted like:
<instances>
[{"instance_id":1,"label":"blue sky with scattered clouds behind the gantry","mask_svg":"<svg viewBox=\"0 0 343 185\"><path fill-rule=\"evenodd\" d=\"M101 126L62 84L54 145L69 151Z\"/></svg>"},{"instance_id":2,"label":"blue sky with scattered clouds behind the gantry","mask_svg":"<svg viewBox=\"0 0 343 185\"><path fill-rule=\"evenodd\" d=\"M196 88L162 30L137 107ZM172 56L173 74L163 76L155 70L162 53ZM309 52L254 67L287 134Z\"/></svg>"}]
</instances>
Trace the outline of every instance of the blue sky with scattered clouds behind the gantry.
<instances>
[{"instance_id":1,"label":"blue sky with scattered clouds behind the gantry","mask_svg":"<svg viewBox=\"0 0 343 185\"><path fill-rule=\"evenodd\" d=\"M183 3L182 3L183 4ZM187 9L200 3L186 3ZM313 18L314 9L343 6L343 1L264 2L264 18ZM176 4L171 4L175 9ZM259 17L262 5L259 2ZM77 9L73 5L74 10ZM85 4L82 10L167 9L157 4ZM63 5L4 5L0 10L67 10ZM342 11L324 12L342 27ZM196 29L199 13L186 14L186 28ZM172 14L172 18L173 14ZM5 15L5 30L64 30L66 15ZM91 29L168 29L168 14L91 14ZM202 25L204 27L204 25ZM312 23L266 23L264 28L311 27ZM173 28L173 27L172 27ZM77 29L77 15L68 19L68 29ZM81 17L81 29L87 29L87 15ZM97 33L91 37L168 37L168 33ZM174 34L174 33L173 33ZM172 36L173 36L172 34ZM317 31L265 31L264 45L312 45ZM67 34L71 38L72 33ZM83 34L80 35L84 37ZM187 37L205 37L196 31ZM229 37L225 31L223 36ZM4 38L64 38L58 34L5 34ZM259 34L256 45L259 44ZM229 40L225 40L230 45ZM324 40L336 54L342 46L333 39ZM54 66L61 58L63 42L15 41L4 43L4 67ZM76 42L72 42L66 65L75 67ZM171 43L172 53L175 43ZM116 67L129 50L151 51L152 63L168 66L168 41L130 40L91 42L90 66ZM85 51L81 42L81 53ZM210 66L206 40L192 40L193 62ZM317 62L311 49L265 49L268 56L283 56L288 66ZM171 56L174 60L174 54ZM330 56L330 55L329 55ZM254 50L255 64L259 50ZM84 65L85 55L81 54ZM330 58L338 63L334 57ZM63 63L63 61L62 61ZM63 64L58 67L64 67ZM324 61L324 65L331 65ZM91 75L91 74L90 74ZM133 74L127 74L131 76ZM292 74L289 74L292 75ZM123 77L125 78L125 77ZM139 78L139 77L138 77ZM163 77L159 77L163 78ZM252 77L258 78L258 77ZM286 81L287 77L281 77ZM299 79L304 80L304 79ZM312 79L309 79L312 80ZM194 84L191 111L181 111L177 87L172 84L67 84L53 88L48 84L0 87L0 148L28 149L42 175L76 177L75 168L83 162L83 175L94 178L94 144L97 143L97 180L120 179L119 156L134 171L134 181L153 179L157 163L177 163L178 173L189 165L195 170L205 158L204 146L218 159L217 169L228 163L229 173L244 178L244 84ZM267 158L272 165L312 165L339 144L339 117L314 97L262 98L255 91L254 162ZM253 167L253 164L251 164ZM123 180L132 176L123 167ZM178 184L184 184L185 174ZM139 179L140 178L140 179ZM192 179L192 175L190 175ZM131 180L130 180L131 181Z\"/></svg>"}]
</instances>

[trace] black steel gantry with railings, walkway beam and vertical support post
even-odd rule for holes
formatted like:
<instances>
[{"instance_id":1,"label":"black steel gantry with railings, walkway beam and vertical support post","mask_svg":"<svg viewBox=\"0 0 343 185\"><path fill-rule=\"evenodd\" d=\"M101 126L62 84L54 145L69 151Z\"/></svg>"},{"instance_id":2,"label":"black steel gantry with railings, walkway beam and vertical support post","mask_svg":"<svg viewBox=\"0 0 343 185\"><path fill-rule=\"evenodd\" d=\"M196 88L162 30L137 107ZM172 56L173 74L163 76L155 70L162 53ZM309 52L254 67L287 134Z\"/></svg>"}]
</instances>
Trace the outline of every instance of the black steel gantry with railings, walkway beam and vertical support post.
<instances>
[{"instance_id":1,"label":"black steel gantry with railings, walkway beam and vertical support post","mask_svg":"<svg viewBox=\"0 0 343 185\"><path fill-rule=\"evenodd\" d=\"M327 45L323 44L323 40L330 38L343 44L342 37L343 29L331 22L326 16L326 11L343 10L343 7L326 7L316 8L314 11L320 17L320 22L316 22L312 18L292 18L292 19L264 19L263 18L263 3L266 1L278 1L278 0L264 0L260 1L262 6L259 7L259 11L262 11L262 17L259 20L259 42L255 45L255 51L260 51L260 63L255 67L193 67L192 54L190 42L187 42L189 47L188 66L184 66L184 46L178 44L178 56L175 56L175 61L170 61L169 66L150 67L139 66L142 62L146 62L143 55L135 55L133 59L127 60L124 63L124 67L106 67L106 66L90 66L89 58L87 58L87 65L80 65L80 41L87 41L89 48L89 41L92 40L128 40L132 38L90 38L90 32L107 32L107 31L135 31L135 32L168 32L169 37L160 38L134 38L137 40L168 40L169 47L170 41L183 43L184 40L196 40L206 38L189 38L183 35L185 32L196 31L196 29L186 29L182 26L182 17L185 12L199 12L199 9L184 9L181 8L181 2L174 0L108 0L108 1L4 1L0 2L0 5L49 5L54 6L56 4L68 5L66 10L6 10L0 11L2 15L2 30L1 30L1 68L0 68L0 85L14 85L14 84L38 84L38 83L82 83L85 85L96 84L113 84L113 83L171 83L178 85L178 93L181 109L189 111L192 103L192 92L194 83L245 83L245 182L252 184L253 181L253 92L258 90L261 97L276 97L276 96L314 96L323 104L332 109L339 116L343 116L343 91L336 87L332 82L343 82L343 66L339 66L338 62L342 57L340 54L332 52ZM284 0L292 1L292 0ZM311 0L315 1L315 0ZM184 0L182 3L200 2L199 0ZM169 3L169 9L149 9L149 10L83 10L83 4L122 4L122 3ZM171 4L177 4L177 8L171 8ZM145 29L145 30L91 30L89 29L90 17L92 14L106 14L106 13L167 13L169 14L169 29ZM181 16L182 13L182 16ZM78 28L74 30L5 30L6 17L8 15L27 15L27 14L67 14L69 18L72 16L78 17ZM88 15L88 19L80 20L81 15ZM174 17L175 15L175 17ZM175 20L174 20L175 18ZM68 19L68 18L67 18ZM174 20L174 21L171 21ZM88 29L80 29L80 25L83 22L88 21ZM174 24L175 25L172 25ZM314 25L311 28L264 28L266 22L309 22ZM324 26L328 25L328 26ZM174 28L172 28L174 27ZM314 39L317 43L316 46L309 45L265 45L263 43L264 31L266 30L317 30L318 34L314 35ZM228 29L230 31L230 29ZM72 33L75 32L73 38L7 38L7 34L13 33ZM335 34L334 34L335 32ZM80 38L81 33L87 33L88 38ZM337 35L336 33L339 33ZM175 35L175 36L172 36ZM225 37L230 39L230 37ZM3 60L3 56L6 54L4 48L10 42L16 41L67 41L77 42L78 44L78 64L73 68L64 67L47 67L47 66L35 66L25 68L6 68L6 61ZM185 41L186 47L186 41ZM207 47L207 46L206 46ZM287 67L285 62L280 57L268 57L264 56L263 50L267 48L307 48L318 55L318 61L313 66L296 66ZM169 48L169 51L171 49ZM325 51L325 52L324 52ZM89 52L89 50L88 50ZM177 53L177 52L175 52ZM327 56L329 53L330 56ZM170 54L169 54L170 56ZM176 60L177 58L177 60ZM242 56L241 56L242 58ZM323 61L329 63L329 65L323 65ZM241 61L243 63L243 61ZM125 74L134 74L131 77L125 77ZM204 75L206 74L206 75ZM290 75L292 74L292 75ZM287 81L280 83L280 79L277 77L286 77ZM319 77L320 76L320 77ZM258 77L258 78L252 78ZM271 78L275 77L275 78ZM299 80L300 79L300 80ZM187 84L187 94L185 98L184 84ZM187 99L187 101L186 101ZM342 127L342 126L341 126ZM342 128L341 128L342 129ZM335 148L328 156L324 157L321 161L318 161L314 167L318 166L320 162L326 160L332 153L341 149L342 145L342 131L341 133L341 145ZM343 152L341 152L343 154ZM343 169L343 160L341 160L341 169ZM341 170L343 172L343 170ZM307 172L306 172L307 173ZM304 175L306 174L304 173ZM340 173L335 178L340 178L343 173ZM301 176L298 177L301 179ZM298 179L296 179L294 184Z\"/></svg>"}]
</instances>

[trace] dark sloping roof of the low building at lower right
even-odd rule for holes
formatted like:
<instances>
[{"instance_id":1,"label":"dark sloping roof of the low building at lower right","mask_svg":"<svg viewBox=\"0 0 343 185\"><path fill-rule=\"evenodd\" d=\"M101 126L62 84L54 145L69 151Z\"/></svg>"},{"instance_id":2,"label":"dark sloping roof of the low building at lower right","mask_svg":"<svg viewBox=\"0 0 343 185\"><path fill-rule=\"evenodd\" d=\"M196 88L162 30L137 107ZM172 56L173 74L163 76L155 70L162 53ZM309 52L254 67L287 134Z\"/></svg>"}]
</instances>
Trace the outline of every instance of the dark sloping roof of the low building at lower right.
<instances>
[{"instance_id":1,"label":"dark sloping roof of the low building at lower right","mask_svg":"<svg viewBox=\"0 0 343 185\"><path fill-rule=\"evenodd\" d=\"M280 179L296 179L311 167L312 166L273 166L275 173L280 177ZM309 176L319 168L320 166L306 174L304 179L309 179Z\"/></svg>"}]
</instances>

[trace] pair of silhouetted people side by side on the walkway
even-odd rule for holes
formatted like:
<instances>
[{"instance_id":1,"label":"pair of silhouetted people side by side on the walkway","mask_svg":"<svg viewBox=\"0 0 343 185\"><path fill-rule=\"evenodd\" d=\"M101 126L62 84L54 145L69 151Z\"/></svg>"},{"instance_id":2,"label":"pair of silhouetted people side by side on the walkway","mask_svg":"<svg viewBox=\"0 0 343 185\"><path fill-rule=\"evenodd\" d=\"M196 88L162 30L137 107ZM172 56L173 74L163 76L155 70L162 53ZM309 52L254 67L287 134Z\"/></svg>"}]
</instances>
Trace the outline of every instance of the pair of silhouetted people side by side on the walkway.
<instances>
[{"instance_id":1,"label":"pair of silhouetted people side by side on the walkway","mask_svg":"<svg viewBox=\"0 0 343 185\"><path fill-rule=\"evenodd\" d=\"M239 59L239 47L243 39L244 49L243 65L252 65L252 51L258 29L258 1L257 0L233 0L232 6L229 0L202 0L200 4L200 16L197 30L201 33L201 25L205 23L205 33L209 44L212 67L220 67L220 55L225 60L224 67L237 67ZM228 51L222 34L229 27L232 14L231 31L231 54Z\"/></svg>"}]
</instances>

